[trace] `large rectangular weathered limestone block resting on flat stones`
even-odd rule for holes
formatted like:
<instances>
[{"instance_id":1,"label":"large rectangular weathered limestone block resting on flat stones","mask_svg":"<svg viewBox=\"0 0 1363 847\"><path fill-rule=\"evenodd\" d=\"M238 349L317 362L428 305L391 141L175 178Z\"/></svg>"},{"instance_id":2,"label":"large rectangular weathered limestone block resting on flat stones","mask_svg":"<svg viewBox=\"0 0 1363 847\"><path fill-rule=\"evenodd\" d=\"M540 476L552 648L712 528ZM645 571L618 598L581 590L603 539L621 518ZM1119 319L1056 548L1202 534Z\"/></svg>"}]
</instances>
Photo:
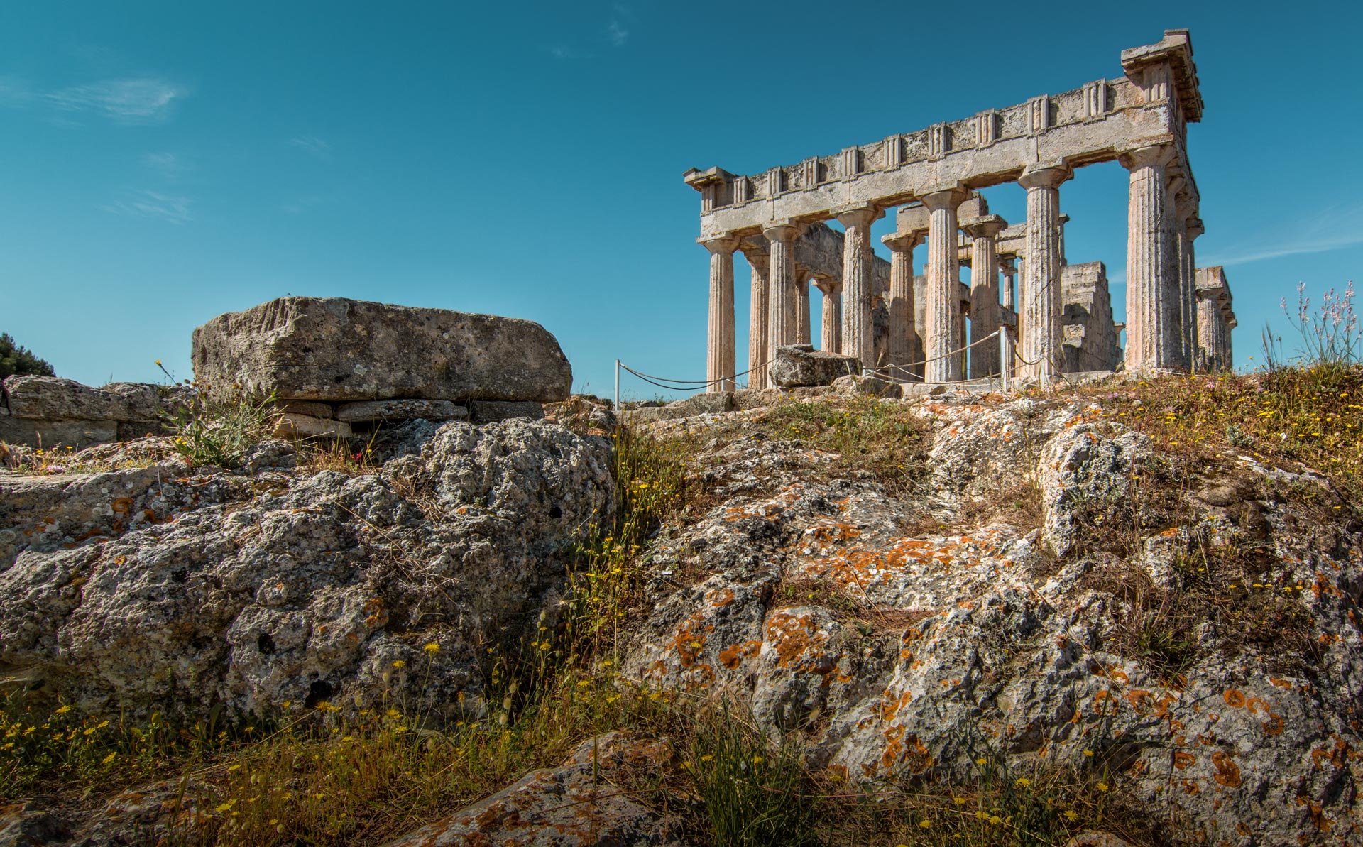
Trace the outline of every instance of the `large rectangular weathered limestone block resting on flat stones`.
<instances>
[{"instance_id":1,"label":"large rectangular weathered limestone block resting on flat stones","mask_svg":"<svg viewBox=\"0 0 1363 847\"><path fill-rule=\"evenodd\" d=\"M572 370L538 323L342 297L281 297L194 330L209 391L289 400L566 400Z\"/></svg>"}]
</instances>

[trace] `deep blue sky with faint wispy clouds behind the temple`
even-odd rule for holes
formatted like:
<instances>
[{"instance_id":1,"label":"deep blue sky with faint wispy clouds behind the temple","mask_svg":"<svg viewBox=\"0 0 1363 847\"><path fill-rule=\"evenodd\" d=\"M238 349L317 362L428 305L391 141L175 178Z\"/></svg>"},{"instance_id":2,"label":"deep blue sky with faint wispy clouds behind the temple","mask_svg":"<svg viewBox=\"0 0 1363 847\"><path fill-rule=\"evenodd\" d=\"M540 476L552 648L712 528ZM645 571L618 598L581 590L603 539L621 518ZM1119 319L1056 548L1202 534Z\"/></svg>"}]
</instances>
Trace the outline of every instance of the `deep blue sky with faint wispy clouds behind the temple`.
<instances>
[{"instance_id":1,"label":"deep blue sky with faint wispy clouds behind the temple","mask_svg":"<svg viewBox=\"0 0 1363 847\"><path fill-rule=\"evenodd\" d=\"M538 321L577 390L609 393L616 357L699 379L683 170L756 173L1118 76L1167 27L1193 34L1198 265L1227 266L1238 366L1265 321L1291 346L1277 303L1298 281L1318 300L1359 276L1360 4L962 8L7 4L0 330L82 382L155 381L157 359L189 375L213 315L346 296ZM1021 220L1021 188L987 196ZM1107 263L1120 312L1126 172L1082 169L1060 205L1069 259ZM741 259L736 277L741 370Z\"/></svg>"}]
</instances>

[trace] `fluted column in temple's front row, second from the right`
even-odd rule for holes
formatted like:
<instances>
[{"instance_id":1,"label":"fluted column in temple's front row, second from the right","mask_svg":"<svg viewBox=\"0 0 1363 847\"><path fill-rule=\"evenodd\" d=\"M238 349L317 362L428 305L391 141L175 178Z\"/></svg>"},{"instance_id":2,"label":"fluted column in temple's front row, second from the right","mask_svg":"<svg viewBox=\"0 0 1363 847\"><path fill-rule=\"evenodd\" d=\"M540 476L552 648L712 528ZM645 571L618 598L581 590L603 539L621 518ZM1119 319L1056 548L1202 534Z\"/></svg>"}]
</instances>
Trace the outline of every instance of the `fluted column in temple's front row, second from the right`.
<instances>
[{"instance_id":1,"label":"fluted column in temple's front row, second from the right","mask_svg":"<svg viewBox=\"0 0 1363 847\"><path fill-rule=\"evenodd\" d=\"M1024 379L1050 383L1065 363L1065 306L1060 300L1060 183L1070 179L1065 165L1028 165L1018 177L1026 188L1026 256L1024 259L1021 323Z\"/></svg>"}]
</instances>

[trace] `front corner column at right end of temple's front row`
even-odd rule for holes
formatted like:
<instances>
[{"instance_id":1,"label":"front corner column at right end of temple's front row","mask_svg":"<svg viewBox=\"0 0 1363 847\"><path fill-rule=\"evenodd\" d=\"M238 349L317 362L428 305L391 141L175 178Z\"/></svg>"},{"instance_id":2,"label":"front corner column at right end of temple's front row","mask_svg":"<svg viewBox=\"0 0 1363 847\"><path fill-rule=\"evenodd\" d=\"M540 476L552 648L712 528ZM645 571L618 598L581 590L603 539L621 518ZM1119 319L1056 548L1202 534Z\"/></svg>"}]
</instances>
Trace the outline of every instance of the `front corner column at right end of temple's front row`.
<instances>
[{"instance_id":1,"label":"front corner column at right end of temple's front row","mask_svg":"<svg viewBox=\"0 0 1363 847\"><path fill-rule=\"evenodd\" d=\"M1126 217L1126 370L1178 367L1179 293L1171 280L1174 244L1169 237L1167 168L1174 147L1157 145L1124 153L1131 172Z\"/></svg>"}]
</instances>

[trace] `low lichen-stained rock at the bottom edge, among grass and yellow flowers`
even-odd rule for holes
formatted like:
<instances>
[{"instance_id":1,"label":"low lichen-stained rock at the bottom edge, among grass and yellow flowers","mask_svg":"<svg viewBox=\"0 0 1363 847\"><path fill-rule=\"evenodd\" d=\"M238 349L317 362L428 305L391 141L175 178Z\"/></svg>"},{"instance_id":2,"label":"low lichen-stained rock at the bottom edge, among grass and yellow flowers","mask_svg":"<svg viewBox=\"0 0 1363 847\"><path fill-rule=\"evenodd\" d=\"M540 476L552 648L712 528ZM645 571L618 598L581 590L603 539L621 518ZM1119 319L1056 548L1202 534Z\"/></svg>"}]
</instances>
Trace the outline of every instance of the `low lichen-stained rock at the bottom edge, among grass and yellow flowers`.
<instances>
[{"instance_id":1,"label":"low lichen-stained rock at the bottom edge, among grass and yellow flowers","mask_svg":"<svg viewBox=\"0 0 1363 847\"><path fill-rule=\"evenodd\" d=\"M423 827L388 847L682 847L680 822L641 805L622 777L656 775L675 764L665 741L609 732L583 742L559 768L532 771L468 809Z\"/></svg>"}]
</instances>

